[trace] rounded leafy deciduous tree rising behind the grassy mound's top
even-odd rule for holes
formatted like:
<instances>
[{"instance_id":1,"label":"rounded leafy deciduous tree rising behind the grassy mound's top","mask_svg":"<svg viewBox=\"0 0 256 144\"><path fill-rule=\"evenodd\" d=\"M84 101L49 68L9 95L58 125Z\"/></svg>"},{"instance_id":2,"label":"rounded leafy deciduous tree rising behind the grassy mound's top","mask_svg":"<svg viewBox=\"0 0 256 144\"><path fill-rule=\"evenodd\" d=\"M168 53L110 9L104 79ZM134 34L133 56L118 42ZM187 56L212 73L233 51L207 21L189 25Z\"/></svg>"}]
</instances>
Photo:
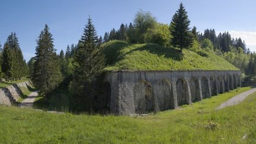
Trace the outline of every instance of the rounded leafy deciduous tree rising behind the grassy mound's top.
<instances>
[{"instance_id":1,"label":"rounded leafy deciduous tree rising behind the grassy mound's top","mask_svg":"<svg viewBox=\"0 0 256 144\"><path fill-rule=\"evenodd\" d=\"M156 18L151 12L138 11L133 20L137 43L145 43L145 34L156 27Z\"/></svg>"}]
</instances>

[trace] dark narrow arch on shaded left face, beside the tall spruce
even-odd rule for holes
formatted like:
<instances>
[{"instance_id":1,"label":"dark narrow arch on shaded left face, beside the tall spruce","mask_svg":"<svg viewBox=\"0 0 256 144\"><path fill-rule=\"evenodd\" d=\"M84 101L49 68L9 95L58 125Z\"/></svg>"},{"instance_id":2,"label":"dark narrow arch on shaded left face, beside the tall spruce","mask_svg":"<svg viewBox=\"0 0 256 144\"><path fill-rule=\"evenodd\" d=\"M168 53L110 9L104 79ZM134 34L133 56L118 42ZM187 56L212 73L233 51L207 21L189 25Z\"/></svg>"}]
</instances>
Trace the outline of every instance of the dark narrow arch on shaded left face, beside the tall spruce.
<instances>
[{"instance_id":1,"label":"dark narrow arch on shaded left face, beside the tall spruce","mask_svg":"<svg viewBox=\"0 0 256 144\"><path fill-rule=\"evenodd\" d=\"M103 85L103 97L102 97L102 108L103 113L110 113L110 103L111 103L111 85L109 82L105 82Z\"/></svg>"}]
</instances>

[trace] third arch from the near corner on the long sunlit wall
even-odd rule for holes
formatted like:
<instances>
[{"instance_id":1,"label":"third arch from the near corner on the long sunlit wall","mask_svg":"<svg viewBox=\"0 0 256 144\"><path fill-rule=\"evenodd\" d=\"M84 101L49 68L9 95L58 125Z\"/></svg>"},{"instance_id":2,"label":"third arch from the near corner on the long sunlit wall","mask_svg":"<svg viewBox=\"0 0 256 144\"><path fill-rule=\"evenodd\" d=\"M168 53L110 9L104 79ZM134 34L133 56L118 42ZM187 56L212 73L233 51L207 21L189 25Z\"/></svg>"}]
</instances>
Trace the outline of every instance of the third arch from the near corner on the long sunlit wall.
<instances>
[{"instance_id":1,"label":"third arch from the near corner on the long sunlit wall","mask_svg":"<svg viewBox=\"0 0 256 144\"><path fill-rule=\"evenodd\" d=\"M183 105L183 104L189 104L188 103L188 87L187 87L187 82L185 79L179 78L176 81L176 89L177 89L177 101L178 105Z\"/></svg>"}]
</instances>

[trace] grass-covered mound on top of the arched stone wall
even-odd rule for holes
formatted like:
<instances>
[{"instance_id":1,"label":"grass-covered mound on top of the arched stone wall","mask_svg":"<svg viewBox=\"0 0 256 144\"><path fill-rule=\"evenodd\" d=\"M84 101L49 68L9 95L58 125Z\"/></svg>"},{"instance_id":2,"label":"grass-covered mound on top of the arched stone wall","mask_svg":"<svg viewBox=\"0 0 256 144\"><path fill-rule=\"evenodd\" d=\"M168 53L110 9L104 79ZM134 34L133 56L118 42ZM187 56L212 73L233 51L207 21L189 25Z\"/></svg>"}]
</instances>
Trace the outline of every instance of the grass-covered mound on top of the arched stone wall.
<instances>
[{"instance_id":1,"label":"grass-covered mound on top of the arched stone wall","mask_svg":"<svg viewBox=\"0 0 256 144\"><path fill-rule=\"evenodd\" d=\"M103 45L107 71L114 70L239 70L231 63L213 53L200 53L158 44L127 44L123 41L109 41ZM200 54L200 55L199 55Z\"/></svg>"}]
</instances>

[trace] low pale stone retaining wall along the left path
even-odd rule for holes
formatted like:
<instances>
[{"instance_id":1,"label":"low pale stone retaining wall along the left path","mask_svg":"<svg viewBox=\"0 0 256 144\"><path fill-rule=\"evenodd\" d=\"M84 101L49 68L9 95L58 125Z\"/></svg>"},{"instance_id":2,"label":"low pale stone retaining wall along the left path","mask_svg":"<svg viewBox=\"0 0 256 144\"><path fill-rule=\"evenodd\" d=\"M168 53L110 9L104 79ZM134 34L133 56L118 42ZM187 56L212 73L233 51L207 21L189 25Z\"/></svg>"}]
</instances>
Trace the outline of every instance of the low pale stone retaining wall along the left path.
<instances>
[{"instance_id":1,"label":"low pale stone retaining wall along the left path","mask_svg":"<svg viewBox=\"0 0 256 144\"><path fill-rule=\"evenodd\" d=\"M28 88L31 85L29 81L20 82L18 84L10 85L6 88L0 89L0 104L12 105L17 103L18 99L22 95L20 88Z\"/></svg>"}]
</instances>

